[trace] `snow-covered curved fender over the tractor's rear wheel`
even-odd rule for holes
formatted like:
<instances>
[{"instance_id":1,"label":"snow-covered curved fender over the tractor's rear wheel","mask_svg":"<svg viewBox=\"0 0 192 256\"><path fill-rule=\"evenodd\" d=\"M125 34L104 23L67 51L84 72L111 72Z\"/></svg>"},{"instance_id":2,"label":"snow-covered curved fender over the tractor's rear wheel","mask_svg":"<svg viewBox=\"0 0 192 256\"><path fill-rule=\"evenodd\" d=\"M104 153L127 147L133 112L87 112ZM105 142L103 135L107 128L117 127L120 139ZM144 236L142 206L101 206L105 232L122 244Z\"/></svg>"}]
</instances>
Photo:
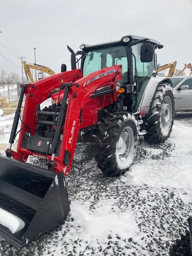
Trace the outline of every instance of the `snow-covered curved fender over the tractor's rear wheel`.
<instances>
[{"instance_id":1,"label":"snow-covered curved fender over the tractor's rear wheel","mask_svg":"<svg viewBox=\"0 0 192 256\"><path fill-rule=\"evenodd\" d=\"M172 85L171 79L160 77L160 76L152 76L146 86L144 95L138 107L138 112L140 112L140 116L144 117L147 110L150 108L151 100L158 90L159 85L162 82L166 82Z\"/></svg>"}]
</instances>

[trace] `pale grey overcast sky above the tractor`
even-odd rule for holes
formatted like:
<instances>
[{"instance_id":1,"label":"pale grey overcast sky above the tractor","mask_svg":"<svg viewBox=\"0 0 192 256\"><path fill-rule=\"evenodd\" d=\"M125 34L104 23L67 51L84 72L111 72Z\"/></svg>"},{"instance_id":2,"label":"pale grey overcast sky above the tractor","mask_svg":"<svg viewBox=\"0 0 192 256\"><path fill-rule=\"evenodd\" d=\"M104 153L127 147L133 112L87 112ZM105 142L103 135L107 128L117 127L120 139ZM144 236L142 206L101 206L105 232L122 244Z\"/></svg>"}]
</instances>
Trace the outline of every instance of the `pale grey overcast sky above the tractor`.
<instances>
[{"instance_id":1,"label":"pale grey overcast sky above the tractor","mask_svg":"<svg viewBox=\"0 0 192 256\"><path fill-rule=\"evenodd\" d=\"M79 50L82 43L119 40L126 34L149 37L164 48L156 51L158 63L177 60L177 69L192 63L192 0L0 0L0 54L21 66L20 53L28 62L60 72L70 69L66 45ZM0 70L21 75L21 68L0 55ZM187 74L190 73L188 70Z\"/></svg>"}]
</instances>

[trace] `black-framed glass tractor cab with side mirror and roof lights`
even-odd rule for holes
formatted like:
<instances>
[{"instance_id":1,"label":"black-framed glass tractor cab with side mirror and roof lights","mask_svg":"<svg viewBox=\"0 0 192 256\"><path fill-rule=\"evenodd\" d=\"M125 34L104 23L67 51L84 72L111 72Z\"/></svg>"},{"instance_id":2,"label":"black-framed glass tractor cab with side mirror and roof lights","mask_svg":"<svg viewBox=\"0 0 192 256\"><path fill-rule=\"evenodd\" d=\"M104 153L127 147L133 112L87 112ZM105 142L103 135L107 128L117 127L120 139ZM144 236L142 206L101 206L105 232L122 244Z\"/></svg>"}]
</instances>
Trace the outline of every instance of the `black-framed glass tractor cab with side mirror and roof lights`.
<instances>
[{"instance_id":1,"label":"black-framed glass tractor cab with side mirror and roof lights","mask_svg":"<svg viewBox=\"0 0 192 256\"><path fill-rule=\"evenodd\" d=\"M132 35L104 44L81 44L81 51L71 54L71 63L74 63L71 67L76 68L75 55L79 54L82 55L80 59L83 76L121 64L125 89L123 110L137 112L149 79L157 73L155 49L162 47L153 39Z\"/></svg>"}]
</instances>

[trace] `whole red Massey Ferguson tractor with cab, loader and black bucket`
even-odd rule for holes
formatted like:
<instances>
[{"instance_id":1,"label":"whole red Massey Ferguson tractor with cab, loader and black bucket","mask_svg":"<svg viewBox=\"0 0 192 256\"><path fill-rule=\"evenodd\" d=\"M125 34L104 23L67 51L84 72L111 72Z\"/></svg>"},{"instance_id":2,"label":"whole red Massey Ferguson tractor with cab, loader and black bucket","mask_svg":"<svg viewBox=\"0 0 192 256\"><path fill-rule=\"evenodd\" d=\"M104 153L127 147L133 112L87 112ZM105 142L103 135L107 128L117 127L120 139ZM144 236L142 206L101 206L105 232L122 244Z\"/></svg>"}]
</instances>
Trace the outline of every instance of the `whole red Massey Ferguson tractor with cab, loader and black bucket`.
<instances>
[{"instance_id":1,"label":"whole red Massey Ferguson tractor with cab, loader and black bucket","mask_svg":"<svg viewBox=\"0 0 192 256\"><path fill-rule=\"evenodd\" d=\"M139 136L153 143L169 138L174 95L170 79L157 76L155 50L162 47L132 35L82 44L76 53L68 47L70 71L62 64L60 74L21 85L9 148L0 156L3 238L21 248L64 223L70 212L65 176L76 143L94 142L98 168L113 176L129 169ZM26 164L28 156L45 159L48 169Z\"/></svg>"}]
</instances>

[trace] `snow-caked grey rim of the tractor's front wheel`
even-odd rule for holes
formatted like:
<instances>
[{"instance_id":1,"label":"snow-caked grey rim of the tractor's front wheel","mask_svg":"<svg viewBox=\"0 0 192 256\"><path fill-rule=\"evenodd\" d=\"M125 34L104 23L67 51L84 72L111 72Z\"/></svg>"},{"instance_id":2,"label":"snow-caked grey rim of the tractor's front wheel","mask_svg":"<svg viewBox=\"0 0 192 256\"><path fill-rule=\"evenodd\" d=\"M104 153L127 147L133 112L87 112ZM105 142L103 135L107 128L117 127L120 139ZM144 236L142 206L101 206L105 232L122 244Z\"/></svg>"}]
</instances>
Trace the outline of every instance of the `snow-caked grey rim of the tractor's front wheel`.
<instances>
[{"instance_id":1,"label":"snow-caked grey rim of the tractor's front wheel","mask_svg":"<svg viewBox=\"0 0 192 256\"><path fill-rule=\"evenodd\" d=\"M133 150L134 135L130 127L125 127L116 145L116 157L123 163L126 162Z\"/></svg>"}]
</instances>

